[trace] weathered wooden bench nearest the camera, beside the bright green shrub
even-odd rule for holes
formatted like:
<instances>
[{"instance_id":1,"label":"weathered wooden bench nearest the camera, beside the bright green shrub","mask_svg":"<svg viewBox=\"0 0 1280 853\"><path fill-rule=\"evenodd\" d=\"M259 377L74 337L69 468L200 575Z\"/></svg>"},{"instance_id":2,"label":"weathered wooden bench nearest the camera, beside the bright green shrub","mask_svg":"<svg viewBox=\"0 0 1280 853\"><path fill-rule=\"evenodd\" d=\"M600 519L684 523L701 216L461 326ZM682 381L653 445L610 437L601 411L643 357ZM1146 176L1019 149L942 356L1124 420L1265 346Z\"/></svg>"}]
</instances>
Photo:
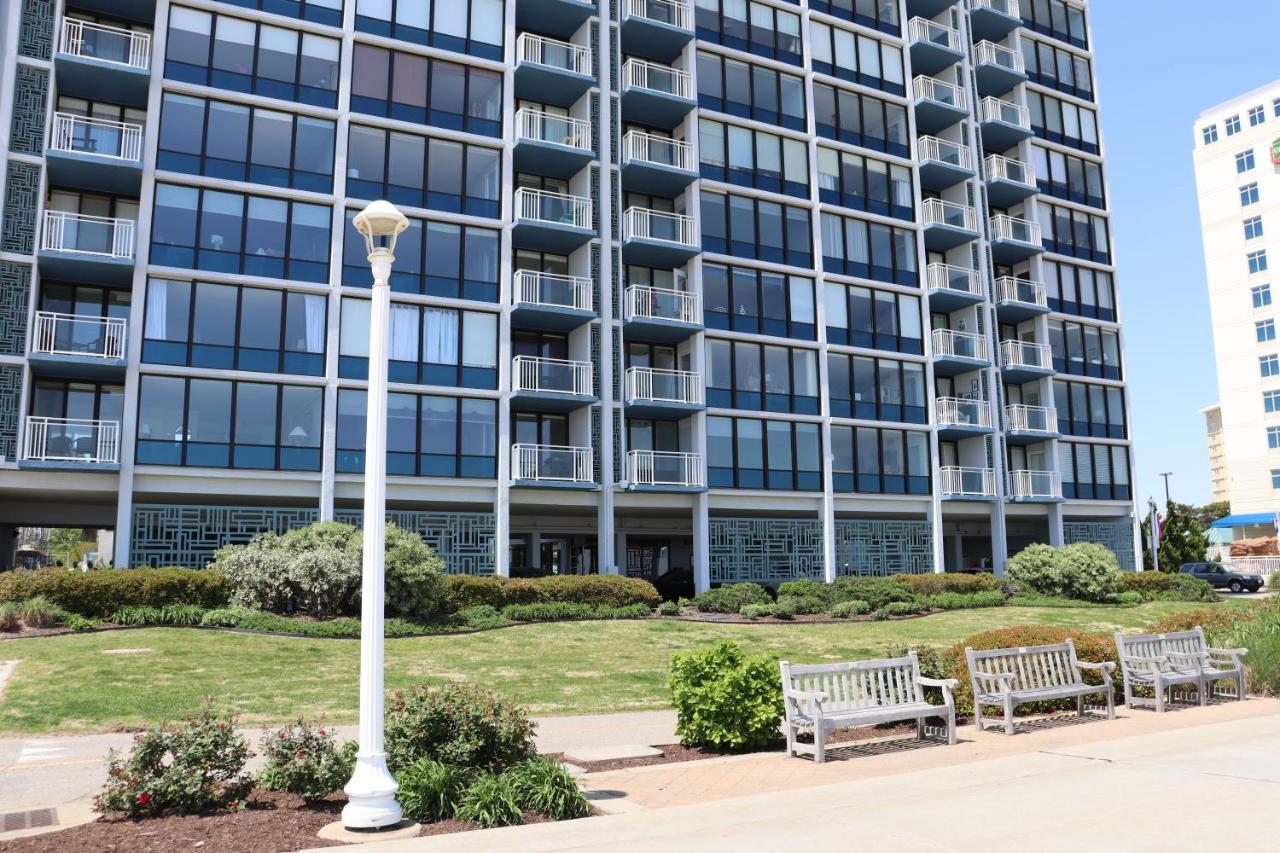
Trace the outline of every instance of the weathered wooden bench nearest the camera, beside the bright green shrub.
<instances>
[{"instance_id":1,"label":"weathered wooden bench nearest the camera, beside the bright green shrub","mask_svg":"<svg viewBox=\"0 0 1280 853\"><path fill-rule=\"evenodd\" d=\"M791 665L782 661L782 695L786 706L787 756L813 753L826 761L827 733L835 729L915 720L915 735L924 738L925 717L942 717L947 743L956 742L955 679L920 675L915 652L906 657L851 663ZM942 688L943 704L929 704L925 686ZM796 743L800 733L813 733L813 745Z\"/></svg>"}]
</instances>

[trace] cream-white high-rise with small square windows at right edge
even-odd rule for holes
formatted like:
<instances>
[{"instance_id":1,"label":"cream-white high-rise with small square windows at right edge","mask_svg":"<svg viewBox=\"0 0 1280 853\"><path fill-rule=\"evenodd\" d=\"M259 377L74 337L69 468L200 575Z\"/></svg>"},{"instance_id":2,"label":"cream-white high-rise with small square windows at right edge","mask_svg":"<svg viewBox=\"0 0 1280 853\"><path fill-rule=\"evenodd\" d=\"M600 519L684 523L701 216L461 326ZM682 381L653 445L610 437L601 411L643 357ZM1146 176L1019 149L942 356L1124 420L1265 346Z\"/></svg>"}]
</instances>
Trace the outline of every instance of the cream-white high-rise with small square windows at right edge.
<instances>
[{"instance_id":1,"label":"cream-white high-rise with small square windows at right edge","mask_svg":"<svg viewBox=\"0 0 1280 853\"><path fill-rule=\"evenodd\" d=\"M1280 228L1280 81L1204 110L1193 133L1228 493L1217 497L1215 479L1215 500L1238 515L1274 514L1280 341L1267 255Z\"/></svg>"}]
</instances>

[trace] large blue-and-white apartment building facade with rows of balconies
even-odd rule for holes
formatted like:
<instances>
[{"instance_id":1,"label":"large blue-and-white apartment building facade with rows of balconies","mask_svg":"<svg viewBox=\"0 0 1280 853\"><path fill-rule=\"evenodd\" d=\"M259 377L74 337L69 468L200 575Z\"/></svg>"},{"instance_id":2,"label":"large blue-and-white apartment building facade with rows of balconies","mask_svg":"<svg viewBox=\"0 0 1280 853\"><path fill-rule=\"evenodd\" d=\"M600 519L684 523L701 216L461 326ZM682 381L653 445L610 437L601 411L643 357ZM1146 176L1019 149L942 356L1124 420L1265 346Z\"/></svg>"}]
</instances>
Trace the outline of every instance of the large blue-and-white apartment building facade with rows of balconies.
<instances>
[{"instance_id":1,"label":"large blue-and-white apartment building facade with rows of balconies","mask_svg":"<svg viewBox=\"0 0 1280 853\"><path fill-rule=\"evenodd\" d=\"M385 197L389 516L452 571L1135 564L1083 3L5 14L9 529L360 523Z\"/></svg>"}]
</instances>

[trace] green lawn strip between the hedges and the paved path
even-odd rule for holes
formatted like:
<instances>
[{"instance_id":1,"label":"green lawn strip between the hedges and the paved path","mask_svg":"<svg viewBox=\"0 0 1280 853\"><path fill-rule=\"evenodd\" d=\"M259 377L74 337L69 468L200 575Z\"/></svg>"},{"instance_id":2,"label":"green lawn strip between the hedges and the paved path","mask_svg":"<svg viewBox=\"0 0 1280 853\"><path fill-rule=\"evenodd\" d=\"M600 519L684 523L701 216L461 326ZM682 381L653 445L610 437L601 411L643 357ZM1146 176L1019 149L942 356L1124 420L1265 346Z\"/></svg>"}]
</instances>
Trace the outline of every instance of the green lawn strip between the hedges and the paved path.
<instances>
[{"instance_id":1,"label":"green lawn strip between the hedges and the paved path","mask_svg":"<svg viewBox=\"0 0 1280 853\"><path fill-rule=\"evenodd\" d=\"M1244 602L1228 602L1238 606ZM660 708L672 652L733 639L791 661L877 657L887 643L955 643L1009 625L1133 630L1203 605L998 607L836 625L713 625L675 620L558 622L387 640L387 686L457 679L497 688L535 713ZM358 643L151 628L5 640L20 663L0 697L0 731L138 727L211 695L243 724L305 715L355 720ZM108 649L143 653L105 654Z\"/></svg>"}]
</instances>

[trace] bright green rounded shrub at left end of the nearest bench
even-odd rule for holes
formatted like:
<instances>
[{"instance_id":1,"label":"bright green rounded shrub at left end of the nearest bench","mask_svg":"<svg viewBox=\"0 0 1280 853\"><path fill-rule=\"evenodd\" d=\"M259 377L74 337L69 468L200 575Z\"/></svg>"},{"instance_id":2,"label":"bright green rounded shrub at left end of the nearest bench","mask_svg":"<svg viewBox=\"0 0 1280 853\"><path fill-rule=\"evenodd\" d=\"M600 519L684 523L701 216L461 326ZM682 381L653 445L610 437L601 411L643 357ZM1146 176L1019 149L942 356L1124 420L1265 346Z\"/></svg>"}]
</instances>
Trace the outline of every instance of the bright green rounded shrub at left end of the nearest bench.
<instances>
[{"instance_id":1,"label":"bright green rounded shrub at left end of the nearest bench","mask_svg":"<svg viewBox=\"0 0 1280 853\"><path fill-rule=\"evenodd\" d=\"M777 662L748 657L731 642L671 657L676 734L687 747L749 749L778 736L782 686Z\"/></svg>"}]
</instances>

